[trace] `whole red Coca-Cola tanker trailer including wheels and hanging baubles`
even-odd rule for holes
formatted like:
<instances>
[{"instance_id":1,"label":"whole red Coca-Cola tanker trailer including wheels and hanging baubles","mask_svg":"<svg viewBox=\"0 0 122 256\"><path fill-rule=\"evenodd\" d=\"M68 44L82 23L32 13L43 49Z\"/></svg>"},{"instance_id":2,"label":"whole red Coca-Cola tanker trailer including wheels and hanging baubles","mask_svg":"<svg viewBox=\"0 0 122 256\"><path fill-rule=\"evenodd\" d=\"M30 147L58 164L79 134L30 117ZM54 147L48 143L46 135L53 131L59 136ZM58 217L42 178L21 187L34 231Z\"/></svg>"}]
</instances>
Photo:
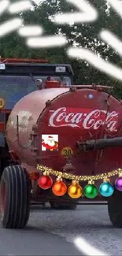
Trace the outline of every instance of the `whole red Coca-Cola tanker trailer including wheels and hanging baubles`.
<instances>
[{"instance_id":1,"label":"whole red Coca-Cola tanker trailer including wheels and hanging baubles","mask_svg":"<svg viewBox=\"0 0 122 256\"><path fill-rule=\"evenodd\" d=\"M13 107L6 125L13 164L0 185L4 228L24 228L32 201L74 209L97 198L122 227L122 104L109 88L47 87Z\"/></svg>"}]
</instances>

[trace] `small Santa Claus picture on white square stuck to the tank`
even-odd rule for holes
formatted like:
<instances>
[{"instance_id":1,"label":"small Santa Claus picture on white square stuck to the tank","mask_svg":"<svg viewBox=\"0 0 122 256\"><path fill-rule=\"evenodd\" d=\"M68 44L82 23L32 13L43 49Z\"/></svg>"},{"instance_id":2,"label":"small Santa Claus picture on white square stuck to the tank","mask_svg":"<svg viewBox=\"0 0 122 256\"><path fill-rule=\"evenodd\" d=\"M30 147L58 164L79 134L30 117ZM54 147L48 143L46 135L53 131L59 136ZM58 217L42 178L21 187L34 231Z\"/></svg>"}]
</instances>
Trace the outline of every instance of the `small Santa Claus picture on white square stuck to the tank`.
<instances>
[{"instance_id":1,"label":"small Santa Claus picture on white square stuck to the tank","mask_svg":"<svg viewBox=\"0 0 122 256\"><path fill-rule=\"evenodd\" d=\"M54 140L54 137L49 135L47 139L43 139L42 146L45 148L45 150L58 150L58 143Z\"/></svg>"}]
</instances>

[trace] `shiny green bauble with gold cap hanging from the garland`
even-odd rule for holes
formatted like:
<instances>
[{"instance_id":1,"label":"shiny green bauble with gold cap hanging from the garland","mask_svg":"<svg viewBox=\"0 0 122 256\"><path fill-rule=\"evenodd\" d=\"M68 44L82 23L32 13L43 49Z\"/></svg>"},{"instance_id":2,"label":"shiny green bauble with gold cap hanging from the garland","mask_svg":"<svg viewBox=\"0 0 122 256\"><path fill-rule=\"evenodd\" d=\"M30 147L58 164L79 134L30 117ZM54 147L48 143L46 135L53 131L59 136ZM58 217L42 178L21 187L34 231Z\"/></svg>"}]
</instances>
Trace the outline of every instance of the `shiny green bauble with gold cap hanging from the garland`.
<instances>
[{"instance_id":1,"label":"shiny green bauble with gold cap hanging from the garland","mask_svg":"<svg viewBox=\"0 0 122 256\"><path fill-rule=\"evenodd\" d=\"M87 186L83 190L84 195L87 198L95 198L98 195L98 187L94 185L93 180L89 180Z\"/></svg>"}]
</instances>

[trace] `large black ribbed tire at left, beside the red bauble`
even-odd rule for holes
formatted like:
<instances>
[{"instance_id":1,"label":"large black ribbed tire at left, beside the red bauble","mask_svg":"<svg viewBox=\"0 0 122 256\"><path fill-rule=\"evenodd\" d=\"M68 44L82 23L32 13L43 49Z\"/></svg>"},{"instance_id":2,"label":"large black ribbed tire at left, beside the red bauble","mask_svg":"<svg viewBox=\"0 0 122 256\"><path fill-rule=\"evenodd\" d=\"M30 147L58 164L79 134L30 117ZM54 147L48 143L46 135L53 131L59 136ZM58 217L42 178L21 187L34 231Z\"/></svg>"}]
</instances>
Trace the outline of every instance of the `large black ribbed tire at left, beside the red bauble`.
<instances>
[{"instance_id":1,"label":"large black ribbed tire at left, beside the red bauble","mask_svg":"<svg viewBox=\"0 0 122 256\"><path fill-rule=\"evenodd\" d=\"M30 213L28 173L20 165L6 167L0 183L3 228L24 228Z\"/></svg>"}]
</instances>

